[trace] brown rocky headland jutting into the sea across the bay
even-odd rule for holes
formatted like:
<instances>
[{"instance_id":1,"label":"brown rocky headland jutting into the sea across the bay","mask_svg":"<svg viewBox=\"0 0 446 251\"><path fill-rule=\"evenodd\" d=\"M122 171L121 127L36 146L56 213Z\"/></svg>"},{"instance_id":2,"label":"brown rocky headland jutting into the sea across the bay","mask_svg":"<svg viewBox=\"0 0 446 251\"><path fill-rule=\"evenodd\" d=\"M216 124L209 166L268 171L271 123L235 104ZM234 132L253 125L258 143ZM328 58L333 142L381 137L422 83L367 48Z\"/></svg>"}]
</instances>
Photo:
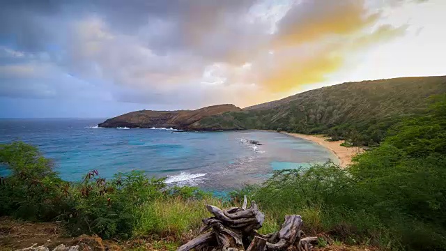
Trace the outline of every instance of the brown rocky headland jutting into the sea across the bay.
<instances>
[{"instance_id":1,"label":"brown rocky headland jutting into the sea across the bay","mask_svg":"<svg viewBox=\"0 0 446 251\"><path fill-rule=\"evenodd\" d=\"M129 112L112 119L107 119L98 126L103 128L175 128L181 130L241 130L241 126L227 123L213 123L207 127L199 121L209 116L218 116L225 112L239 112L235 105L213 105L196 110Z\"/></svg>"}]
</instances>

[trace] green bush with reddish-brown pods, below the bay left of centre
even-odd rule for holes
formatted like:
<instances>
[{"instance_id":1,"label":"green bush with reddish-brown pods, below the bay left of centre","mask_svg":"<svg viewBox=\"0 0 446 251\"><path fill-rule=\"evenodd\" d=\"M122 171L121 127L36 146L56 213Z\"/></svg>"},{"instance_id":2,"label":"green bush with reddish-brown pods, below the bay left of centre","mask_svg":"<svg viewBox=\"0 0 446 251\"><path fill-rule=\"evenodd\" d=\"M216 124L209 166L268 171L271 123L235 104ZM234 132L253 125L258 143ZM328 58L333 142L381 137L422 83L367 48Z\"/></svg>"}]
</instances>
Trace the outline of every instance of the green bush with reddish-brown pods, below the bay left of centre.
<instances>
[{"instance_id":1,"label":"green bush with reddish-brown pods, below the bay left of centre","mask_svg":"<svg viewBox=\"0 0 446 251\"><path fill-rule=\"evenodd\" d=\"M116 174L106 181L98 172L75 185L75 212L68 223L73 234L98 234L103 238L129 238L139 217L139 207L162 197L164 179L147 178L141 172Z\"/></svg>"}]
</instances>

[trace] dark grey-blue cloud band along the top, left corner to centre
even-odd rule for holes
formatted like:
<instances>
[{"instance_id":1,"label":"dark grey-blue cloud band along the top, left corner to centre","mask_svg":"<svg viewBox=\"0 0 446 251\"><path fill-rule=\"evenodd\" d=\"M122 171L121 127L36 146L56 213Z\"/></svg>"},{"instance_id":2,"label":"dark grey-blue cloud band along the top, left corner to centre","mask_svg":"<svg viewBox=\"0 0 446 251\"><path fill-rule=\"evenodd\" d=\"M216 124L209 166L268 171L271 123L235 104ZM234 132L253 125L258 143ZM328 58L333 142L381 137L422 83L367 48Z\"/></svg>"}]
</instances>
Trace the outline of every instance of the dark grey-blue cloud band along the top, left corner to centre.
<instances>
[{"instance_id":1,"label":"dark grey-blue cloud band along the top, left corner to centre","mask_svg":"<svg viewBox=\"0 0 446 251\"><path fill-rule=\"evenodd\" d=\"M254 0L242 1L1 1L0 33L22 50L44 50L58 36L59 22L97 15L112 30L146 38L151 50L186 49L221 22L236 20ZM233 18L235 17L235 19ZM229 24L231 25L231 24ZM146 36L144 32L155 36ZM192 41L194 40L194 41Z\"/></svg>"}]
</instances>

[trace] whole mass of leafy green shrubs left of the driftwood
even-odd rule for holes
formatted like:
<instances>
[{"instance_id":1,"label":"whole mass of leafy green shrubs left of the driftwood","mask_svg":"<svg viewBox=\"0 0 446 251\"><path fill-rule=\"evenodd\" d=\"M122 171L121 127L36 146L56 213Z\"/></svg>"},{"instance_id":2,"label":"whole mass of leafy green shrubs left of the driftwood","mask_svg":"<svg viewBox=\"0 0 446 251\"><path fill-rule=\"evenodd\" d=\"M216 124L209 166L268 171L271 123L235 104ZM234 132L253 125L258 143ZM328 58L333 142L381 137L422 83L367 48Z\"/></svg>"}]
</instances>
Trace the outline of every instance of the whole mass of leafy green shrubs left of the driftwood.
<instances>
[{"instance_id":1,"label":"whole mass of leafy green shrubs left of the driftwood","mask_svg":"<svg viewBox=\"0 0 446 251\"><path fill-rule=\"evenodd\" d=\"M34 221L63 220L74 235L98 234L102 238L126 239L134 232L160 234L170 228L173 230L169 233L189 231L197 224L186 225L188 218L183 221L171 218L175 225L172 227L169 222L160 222L166 211L155 209L160 201L210 197L197 188L167 188L164 178L148 178L142 172L120 173L106 180L93 170L82 182L68 183L59 178L52 162L36 147L23 142L0 145L0 162L10 169L10 175L1 178L0 216L13 215ZM180 206L176 208L178 215L181 215ZM174 208L169 210L167 213ZM151 222L152 226L144 222Z\"/></svg>"}]
</instances>

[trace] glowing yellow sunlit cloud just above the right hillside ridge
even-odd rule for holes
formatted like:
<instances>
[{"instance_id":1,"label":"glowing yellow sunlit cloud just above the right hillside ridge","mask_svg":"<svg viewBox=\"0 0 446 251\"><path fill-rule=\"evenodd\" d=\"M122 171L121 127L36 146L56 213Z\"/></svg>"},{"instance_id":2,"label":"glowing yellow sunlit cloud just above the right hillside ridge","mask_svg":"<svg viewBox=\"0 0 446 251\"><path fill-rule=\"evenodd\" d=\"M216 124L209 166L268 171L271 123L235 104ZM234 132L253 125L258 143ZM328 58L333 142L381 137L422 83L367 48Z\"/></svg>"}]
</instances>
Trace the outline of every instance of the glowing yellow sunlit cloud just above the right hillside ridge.
<instances>
[{"instance_id":1,"label":"glowing yellow sunlit cloud just above the right hillside ridge","mask_svg":"<svg viewBox=\"0 0 446 251\"><path fill-rule=\"evenodd\" d=\"M356 54L364 53L373 45L384 43L406 33L407 26L378 26L374 31L349 33L329 41L278 47L269 63L273 68L260 67L261 84L273 92L298 90L305 84L324 82L332 73L346 65Z\"/></svg>"}]
</instances>

